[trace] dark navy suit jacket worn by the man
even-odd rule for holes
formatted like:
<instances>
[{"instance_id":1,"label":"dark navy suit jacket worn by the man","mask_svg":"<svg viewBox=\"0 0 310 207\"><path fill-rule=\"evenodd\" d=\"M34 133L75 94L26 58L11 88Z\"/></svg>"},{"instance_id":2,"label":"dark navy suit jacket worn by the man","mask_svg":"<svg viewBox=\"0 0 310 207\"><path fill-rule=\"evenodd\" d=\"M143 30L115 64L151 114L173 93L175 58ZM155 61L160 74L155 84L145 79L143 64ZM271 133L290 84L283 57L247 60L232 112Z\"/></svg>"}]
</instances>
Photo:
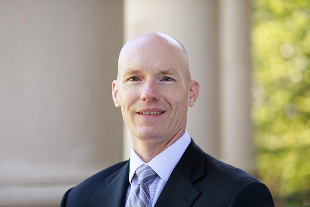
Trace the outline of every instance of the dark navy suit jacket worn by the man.
<instances>
[{"instance_id":1,"label":"dark navy suit jacket worn by the man","mask_svg":"<svg viewBox=\"0 0 310 207\"><path fill-rule=\"evenodd\" d=\"M124 207L129 161L69 189L61 207ZM241 169L206 154L193 140L172 171L155 207L273 207L268 188Z\"/></svg>"}]
</instances>

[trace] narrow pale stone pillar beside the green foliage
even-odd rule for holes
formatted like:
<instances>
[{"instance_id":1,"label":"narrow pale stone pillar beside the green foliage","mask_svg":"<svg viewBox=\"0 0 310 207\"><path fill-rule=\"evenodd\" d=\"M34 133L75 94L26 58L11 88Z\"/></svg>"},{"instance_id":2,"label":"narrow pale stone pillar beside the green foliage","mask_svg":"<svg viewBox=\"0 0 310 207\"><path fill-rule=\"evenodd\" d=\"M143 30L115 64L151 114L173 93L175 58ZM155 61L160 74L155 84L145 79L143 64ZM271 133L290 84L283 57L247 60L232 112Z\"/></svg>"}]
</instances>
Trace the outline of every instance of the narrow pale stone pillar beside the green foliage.
<instances>
[{"instance_id":1,"label":"narrow pale stone pillar beside the green foliage","mask_svg":"<svg viewBox=\"0 0 310 207\"><path fill-rule=\"evenodd\" d=\"M255 174L248 0L220 1L220 158Z\"/></svg>"}]
</instances>

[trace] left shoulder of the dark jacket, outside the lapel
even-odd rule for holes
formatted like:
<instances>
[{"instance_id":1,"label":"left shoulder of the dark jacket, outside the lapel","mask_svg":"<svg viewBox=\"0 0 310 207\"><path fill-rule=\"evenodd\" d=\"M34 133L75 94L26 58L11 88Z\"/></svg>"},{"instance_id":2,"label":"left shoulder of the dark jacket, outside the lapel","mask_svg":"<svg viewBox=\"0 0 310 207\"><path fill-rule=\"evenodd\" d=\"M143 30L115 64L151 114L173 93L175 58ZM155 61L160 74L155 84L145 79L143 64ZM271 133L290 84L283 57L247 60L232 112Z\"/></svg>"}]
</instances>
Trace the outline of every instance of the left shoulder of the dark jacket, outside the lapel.
<instances>
[{"instance_id":1,"label":"left shoulder of the dark jacket, outside the lapel","mask_svg":"<svg viewBox=\"0 0 310 207\"><path fill-rule=\"evenodd\" d=\"M60 207L70 206L91 206L91 198L98 192L107 188L105 179L115 173L117 170L125 167L127 161L114 164L87 178L77 186L69 189L61 200Z\"/></svg>"}]
</instances>

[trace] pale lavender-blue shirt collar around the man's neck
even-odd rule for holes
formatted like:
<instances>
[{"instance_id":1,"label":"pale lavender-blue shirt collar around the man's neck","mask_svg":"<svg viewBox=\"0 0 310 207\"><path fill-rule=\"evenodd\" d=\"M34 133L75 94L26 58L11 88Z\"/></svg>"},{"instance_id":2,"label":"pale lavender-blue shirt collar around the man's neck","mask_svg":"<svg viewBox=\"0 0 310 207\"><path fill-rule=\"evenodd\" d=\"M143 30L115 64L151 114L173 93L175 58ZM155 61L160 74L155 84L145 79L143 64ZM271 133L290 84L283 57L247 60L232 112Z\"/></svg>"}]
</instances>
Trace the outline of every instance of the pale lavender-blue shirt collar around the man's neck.
<instances>
[{"instance_id":1,"label":"pale lavender-blue shirt collar around the man's neck","mask_svg":"<svg viewBox=\"0 0 310 207\"><path fill-rule=\"evenodd\" d=\"M144 164L148 164L157 175L167 182L172 170L178 164L180 158L182 157L184 151L188 147L191 139L188 135L188 132L185 130L185 133L180 137L175 143L170 145L167 149L162 151L156 157L154 157L149 163L145 163L134 151L131 145L130 161L129 161L129 182L135 175L135 171Z\"/></svg>"}]
</instances>

